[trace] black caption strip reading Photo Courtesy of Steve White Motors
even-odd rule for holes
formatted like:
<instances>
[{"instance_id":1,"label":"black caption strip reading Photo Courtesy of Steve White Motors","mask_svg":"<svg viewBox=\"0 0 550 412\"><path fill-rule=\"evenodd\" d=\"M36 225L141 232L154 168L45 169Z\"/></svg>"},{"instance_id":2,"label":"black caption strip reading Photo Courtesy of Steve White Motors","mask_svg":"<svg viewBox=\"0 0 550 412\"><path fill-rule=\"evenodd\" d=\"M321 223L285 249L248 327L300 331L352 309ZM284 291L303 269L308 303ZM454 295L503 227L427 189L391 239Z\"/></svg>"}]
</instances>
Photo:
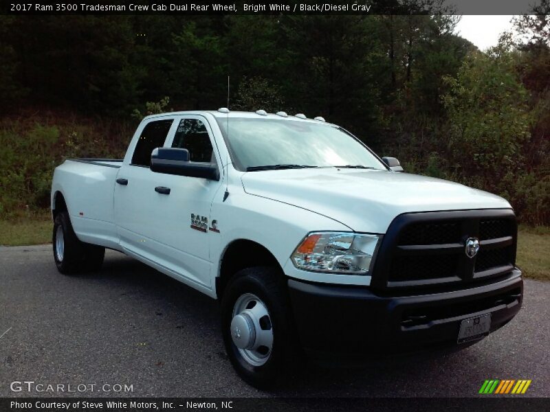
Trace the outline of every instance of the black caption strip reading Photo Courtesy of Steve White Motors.
<instances>
[{"instance_id":1,"label":"black caption strip reading Photo Courtesy of Steve White Motors","mask_svg":"<svg viewBox=\"0 0 550 412\"><path fill-rule=\"evenodd\" d=\"M1 411L547 411L549 398L0 398Z\"/></svg>"}]
</instances>

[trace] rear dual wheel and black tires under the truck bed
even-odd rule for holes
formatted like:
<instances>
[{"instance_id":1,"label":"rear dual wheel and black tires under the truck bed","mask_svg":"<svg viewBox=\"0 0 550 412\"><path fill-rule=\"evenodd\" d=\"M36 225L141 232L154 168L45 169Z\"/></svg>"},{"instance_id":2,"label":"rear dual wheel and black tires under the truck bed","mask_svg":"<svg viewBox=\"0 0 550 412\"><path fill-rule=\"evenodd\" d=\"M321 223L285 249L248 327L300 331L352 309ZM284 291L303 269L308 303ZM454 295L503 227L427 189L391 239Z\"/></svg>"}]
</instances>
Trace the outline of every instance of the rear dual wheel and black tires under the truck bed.
<instances>
[{"instance_id":1,"label":"rear dual wheel and black tires under the truck bed","mask_svg":"<svg viewBox=\"0 0 550 412\"><path fill-rule=\"evenodd\" d=\"M65 275L96 271L103 263L105 248L78 240L66 211L54 220L52 244L57 270Z\"/></svg>"}]
</instances>

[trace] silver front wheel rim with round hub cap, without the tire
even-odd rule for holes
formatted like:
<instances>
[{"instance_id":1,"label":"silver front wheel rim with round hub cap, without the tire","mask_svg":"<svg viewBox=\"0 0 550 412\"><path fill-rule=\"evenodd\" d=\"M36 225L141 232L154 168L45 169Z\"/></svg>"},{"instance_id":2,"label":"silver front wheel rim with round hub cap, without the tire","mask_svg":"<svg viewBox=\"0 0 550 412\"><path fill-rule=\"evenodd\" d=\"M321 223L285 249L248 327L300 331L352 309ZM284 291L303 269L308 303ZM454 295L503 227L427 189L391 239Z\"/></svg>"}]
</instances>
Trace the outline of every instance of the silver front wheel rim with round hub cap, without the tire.
<instances>
[{"instance_id":1,"label":"silver front wheel rim with round hub cap, without the tire","mask_svg":"<svg viewBox=\"0 0 550 412\"><path fill-rule=\"evenodd\" d=\"M273 326L267 307L252 293L245 293L233 306L231 339L243 359L252 366L264 365L273 348Z\"/></svg>"}]
</instances>

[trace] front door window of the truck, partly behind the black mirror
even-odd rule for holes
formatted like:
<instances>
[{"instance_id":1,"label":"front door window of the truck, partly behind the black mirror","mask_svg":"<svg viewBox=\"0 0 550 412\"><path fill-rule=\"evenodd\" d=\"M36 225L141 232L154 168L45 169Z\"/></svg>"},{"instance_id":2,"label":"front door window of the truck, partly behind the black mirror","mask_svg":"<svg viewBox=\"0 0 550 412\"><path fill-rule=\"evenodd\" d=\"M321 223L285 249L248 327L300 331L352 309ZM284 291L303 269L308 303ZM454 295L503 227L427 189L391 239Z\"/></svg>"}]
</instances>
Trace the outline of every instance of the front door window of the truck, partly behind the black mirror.
<instances>
[{"instance_id":1,"label":"front door window of the truck, partly behind the black mirror","mask_svg":"<svg viewBox=\"0 0 550 412\"><path fill-rule=\"evenodd\" d=\"M181 119L172 144L173 148L187 149L190 161L216 161L206 126L199 119Z\"/></svg>"}]
</instances>

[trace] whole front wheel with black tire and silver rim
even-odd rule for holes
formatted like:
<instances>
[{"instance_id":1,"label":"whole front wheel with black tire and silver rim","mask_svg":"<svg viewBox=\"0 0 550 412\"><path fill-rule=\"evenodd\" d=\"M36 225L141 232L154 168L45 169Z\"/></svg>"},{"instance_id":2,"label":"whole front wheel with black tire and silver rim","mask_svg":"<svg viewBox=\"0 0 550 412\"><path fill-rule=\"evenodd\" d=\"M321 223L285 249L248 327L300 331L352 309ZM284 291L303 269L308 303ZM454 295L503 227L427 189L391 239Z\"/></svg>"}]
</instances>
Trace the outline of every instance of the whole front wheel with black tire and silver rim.
<instances>
[{"instance_id":1,"label":"whole front wheel with black tire and silver rim","mask_svg":"<svg viewBox=\"0 0 550 412\"><path fill-rule=\"evenodd\" d=\"M237 374L258 388L274 385L295 353L281 282L274 268L247 268L236 273L221 301L225 350Z\"/></svg>"}]
</instances>

